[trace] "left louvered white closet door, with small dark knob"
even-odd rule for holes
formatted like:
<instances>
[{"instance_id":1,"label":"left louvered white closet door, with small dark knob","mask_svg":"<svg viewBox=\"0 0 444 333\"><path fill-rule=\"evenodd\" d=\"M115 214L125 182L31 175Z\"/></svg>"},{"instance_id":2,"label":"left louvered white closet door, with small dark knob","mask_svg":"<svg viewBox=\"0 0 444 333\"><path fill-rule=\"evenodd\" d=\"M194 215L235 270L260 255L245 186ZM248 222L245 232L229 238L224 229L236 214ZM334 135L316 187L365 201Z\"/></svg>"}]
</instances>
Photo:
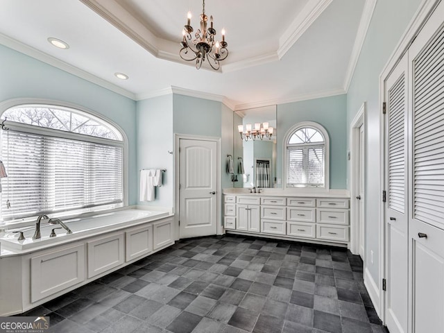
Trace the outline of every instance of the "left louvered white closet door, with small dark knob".
<instances>
[{"instance_id":1,"label":"left louvered white closet door, with small dark knob","mask_svg":"<svg viewBox=\"0 0 444 333\"><path fill-rule=\"evenodd\" d=\"M386 100L386 325L407 333L407 54L385 82Z\"/></svg>"}]
</instances>

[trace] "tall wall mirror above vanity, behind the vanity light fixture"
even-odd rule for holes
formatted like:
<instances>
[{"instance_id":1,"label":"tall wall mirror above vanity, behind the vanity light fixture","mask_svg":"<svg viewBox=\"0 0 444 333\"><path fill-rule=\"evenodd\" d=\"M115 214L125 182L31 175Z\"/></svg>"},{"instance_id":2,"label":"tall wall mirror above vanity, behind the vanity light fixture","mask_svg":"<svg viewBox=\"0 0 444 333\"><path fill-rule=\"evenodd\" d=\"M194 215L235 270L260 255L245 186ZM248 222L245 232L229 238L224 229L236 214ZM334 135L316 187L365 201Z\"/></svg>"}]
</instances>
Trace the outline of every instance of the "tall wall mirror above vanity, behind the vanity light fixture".
<instances>
[{"instance_id":1,"label":"tall wall mirror above vanity, behind the vanity light fixture","mask_svg":"<svg viewBox=\"0 0 444 333\"><path fill-rule=\"evenodd\" d=\"M233 117L233 187L275 187L276 105L236 111ZM241 137L239 126L245 132L250 126L251 130L255 130L255 124L260 124L260 128L263 128L264 123L268 124L268 128L273 128L271 138L259 135L253 139L250 135L246 141Z\"/></svg>"}]
</instances>

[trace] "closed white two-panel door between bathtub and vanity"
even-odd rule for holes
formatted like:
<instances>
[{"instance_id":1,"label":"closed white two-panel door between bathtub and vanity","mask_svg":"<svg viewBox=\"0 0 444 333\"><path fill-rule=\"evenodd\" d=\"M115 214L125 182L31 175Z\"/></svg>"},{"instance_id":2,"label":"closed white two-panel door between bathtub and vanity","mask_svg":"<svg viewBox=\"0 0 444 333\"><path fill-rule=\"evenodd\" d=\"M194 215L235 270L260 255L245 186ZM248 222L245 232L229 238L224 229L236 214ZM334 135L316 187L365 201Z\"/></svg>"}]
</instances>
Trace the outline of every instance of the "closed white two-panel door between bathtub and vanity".
<instances>
[{"instance_id":1,"label":"closed white two-panel door between bathtub and vanity","mask_svg":"<svg viewBox=\"0 0 444 333\"><path fill-rule=\"evenodd\" d=\"M180 139L180 238L216 234L217 143Z\"/></svg>"}]
</instances>

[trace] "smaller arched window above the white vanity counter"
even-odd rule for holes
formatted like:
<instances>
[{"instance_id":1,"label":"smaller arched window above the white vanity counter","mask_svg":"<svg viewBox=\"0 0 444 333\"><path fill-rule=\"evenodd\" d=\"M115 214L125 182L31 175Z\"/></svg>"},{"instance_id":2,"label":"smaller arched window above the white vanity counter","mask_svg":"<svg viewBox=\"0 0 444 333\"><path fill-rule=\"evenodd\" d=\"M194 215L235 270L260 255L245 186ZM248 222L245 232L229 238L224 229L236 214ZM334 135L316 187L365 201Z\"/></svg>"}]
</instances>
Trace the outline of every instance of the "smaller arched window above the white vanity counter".
<instances>
[{"instance_id":1,"label":"smaller arched window above the white vanity counter","mask_svg":"<svg viewBox=\"0 0 444 333\"><path fill-rule=\"evenodd\" d=\"M284 139L285 187L329 188L329 138L311 121L297 123Z\"/></svg>"}]
</instances>

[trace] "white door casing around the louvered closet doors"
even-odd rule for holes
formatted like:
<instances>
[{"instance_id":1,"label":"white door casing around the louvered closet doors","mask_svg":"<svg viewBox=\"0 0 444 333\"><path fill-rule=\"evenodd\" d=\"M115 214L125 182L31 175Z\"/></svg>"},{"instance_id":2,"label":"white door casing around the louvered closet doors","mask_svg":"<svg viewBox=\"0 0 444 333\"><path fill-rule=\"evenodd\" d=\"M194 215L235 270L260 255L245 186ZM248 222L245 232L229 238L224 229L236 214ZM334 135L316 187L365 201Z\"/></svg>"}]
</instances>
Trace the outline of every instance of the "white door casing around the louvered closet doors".
<instances>
[{"instance_id":1,"label":"white door casing around the louvered closet doors","mask_svg":"<svg viewBox=\"0 0 444 333\"><path fill-rule=\"evenodd\" d=\"M372 284L372 290L369 290L370 298L375 305L375 310L377 311L377 314L379 315L379 318L381 318L382 323L385 324L386 322L386 302L385 302L385 295L384 290L382 290L382 279L386 278L386 246L385 246L385 239L386 239L386 232L385 232L385 210L384 210L384 203L382 202L382 191L386 190L385 188L385 182L386 182L386 173L385 173L385 165L386 165L386 159L385 159L385 149L387 144L387 139L384 133L385 130L385 121L386 117L385 114L383 114L383 103L385 101L385 82L388 76L390 76L393 69L395 69L396 65L398 64L399 60L402 58L404 53L409 49L410 44L413 42L413 40L416 38L416 35L420 32L420 29L422 26L427 22L427 19L430 15L432 15L432 12L434 11L434 8L438 6L438 3L440 3L441 0L422 0L420 3L420 6L418 10L416 11L415 15L413 15L413 18L411 19L410 23L407 25L406 30L404 31L404 34L400 38L400 41L398 42L397 46L395 47L395 50L393 53L391 53L390 58L388 58L386 65L383 67L381 74L379 75L379 157L381 160L381 163L379 163L379 237L378 237L378 249L379 249L379 278L378 280L374 280L372 276L370 275L364 275L364 282L366 282L366 278L369 278ZM367 270L367 268L365 268ZM410 313L409 313L410 314Z\"/></svg>"}]
</instances>

